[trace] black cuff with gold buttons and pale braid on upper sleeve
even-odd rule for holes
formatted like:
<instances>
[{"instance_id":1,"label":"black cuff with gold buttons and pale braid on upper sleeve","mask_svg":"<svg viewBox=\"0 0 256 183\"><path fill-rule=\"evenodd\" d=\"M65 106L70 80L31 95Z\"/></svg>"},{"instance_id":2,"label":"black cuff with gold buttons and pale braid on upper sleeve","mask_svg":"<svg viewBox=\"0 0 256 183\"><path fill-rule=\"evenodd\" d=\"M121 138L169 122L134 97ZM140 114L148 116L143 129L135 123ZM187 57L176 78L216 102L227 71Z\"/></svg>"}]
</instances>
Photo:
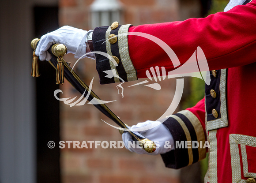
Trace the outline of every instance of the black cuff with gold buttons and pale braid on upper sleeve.
<instances>
[{"instance_id":1,"label":"black cuff with gold buttons and pale braid on upper sleeve","mask_svg":"<svg viewBox=\"0 0 256 183\"><path fill-rule=\"evenodd\" d=\"M113 30L110 26L94 29L92 41L101 84L137 80L137 73L128 51L127 33L130 26L132 25L122 25ZM110 34L113 36L111 39L109 39ZM117 65L101 53L113 57Z\"/></svg>"}]
</instances>

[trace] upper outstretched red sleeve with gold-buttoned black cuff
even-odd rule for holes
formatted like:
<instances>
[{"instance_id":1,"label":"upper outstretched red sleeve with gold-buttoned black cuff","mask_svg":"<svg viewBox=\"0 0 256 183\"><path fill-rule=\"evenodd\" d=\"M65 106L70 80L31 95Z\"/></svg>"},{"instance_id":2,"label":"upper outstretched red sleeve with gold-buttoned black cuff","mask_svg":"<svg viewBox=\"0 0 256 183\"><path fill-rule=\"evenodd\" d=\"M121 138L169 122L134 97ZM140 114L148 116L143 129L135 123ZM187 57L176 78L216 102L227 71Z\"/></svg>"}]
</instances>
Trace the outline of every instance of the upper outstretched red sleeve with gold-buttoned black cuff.
<instances>
[{"instance_id":1,"label":"upper outstretched red sleeve with gold-buttoned black cuff","mask_svg":"<svg viewBox=\"0 0 256 183\"><path fill-rule=\"evenodd\" d=\"M94 51L109 55L96 52L100 82L145 78L146 71L156 66L172 71L184 65L198 47L203 50L210 70L253 63L256 58L255 15L256 0L252 0L206 18L139 26L128 24L115 29L97 27L93 33ZM170 54L176 56L170 57Z\"/></svg>"}]
</instances>

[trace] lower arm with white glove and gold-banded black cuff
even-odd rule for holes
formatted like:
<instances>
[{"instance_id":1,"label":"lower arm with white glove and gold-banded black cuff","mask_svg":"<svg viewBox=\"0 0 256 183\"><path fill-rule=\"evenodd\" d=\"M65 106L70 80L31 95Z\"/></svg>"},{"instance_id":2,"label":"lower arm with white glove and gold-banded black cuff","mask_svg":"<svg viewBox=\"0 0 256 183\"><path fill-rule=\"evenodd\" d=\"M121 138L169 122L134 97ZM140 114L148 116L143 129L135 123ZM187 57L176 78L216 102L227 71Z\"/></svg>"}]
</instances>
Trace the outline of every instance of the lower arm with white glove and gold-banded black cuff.
<instances>
[{"instance_id":1,"label":"lower arm with white glove and gold-banded black cuff","mask_svg":"<svg viewBox=\"0 0 256 183\"><path fill-rule=\"evenodd\" d=\"M163 120L163 123L146 121L131 127L132 131L138 131L140 135L157 143L154 153L147 153L139 147L129 146L130 142L134 142L129 133L122 135L124 146L139 154L161 154L166 167L176 169L196 163L206 157L204 99L194 107L187 108ZM147 127L150 128L147 129ZM198 147L195 147L197 145Z\"/></svg>"}]
</instances>

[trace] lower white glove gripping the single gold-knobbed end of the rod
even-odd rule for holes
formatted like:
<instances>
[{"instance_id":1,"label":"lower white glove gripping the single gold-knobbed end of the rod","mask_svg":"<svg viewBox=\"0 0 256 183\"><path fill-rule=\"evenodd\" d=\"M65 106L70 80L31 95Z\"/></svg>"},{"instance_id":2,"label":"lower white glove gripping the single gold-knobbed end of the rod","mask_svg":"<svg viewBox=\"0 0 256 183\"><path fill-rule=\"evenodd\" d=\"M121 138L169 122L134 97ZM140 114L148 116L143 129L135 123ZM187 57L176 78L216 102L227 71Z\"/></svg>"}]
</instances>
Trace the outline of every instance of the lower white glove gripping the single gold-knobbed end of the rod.
<instances>
[{"instance_id":1,"label":"lower white glove gripping the single gold-knobbed end of the rod","mask_svg":"<svg viewBox=\"0 0 256 183\"><path fill-rule=\"evenodd\" d=\"M147 126L149 125L149 126ZM122 134L124 146L126 149L130 150L131 152L135 152L138 154L150 154L150 155L157 155L157 154L164 154L169 152L170 150L174 149L174 140L171 132L169 129L162 124L160 121L146 121L143 123L138 123L137 125L133 125L130 130L136 132L138 128L143 128L147 126L152 126L153 128L149 128L148 130L139 131L140 136L143 136L144 138L148 138L149 140L156 143L156 150L153 153L147 153L142 147L136 146L136 148L133 148L131 144L136 143L134 139L132 138L132 135L128 132L124 132ZM129 145L130 143L130 145Z\"/></svg>"}]
</instances>

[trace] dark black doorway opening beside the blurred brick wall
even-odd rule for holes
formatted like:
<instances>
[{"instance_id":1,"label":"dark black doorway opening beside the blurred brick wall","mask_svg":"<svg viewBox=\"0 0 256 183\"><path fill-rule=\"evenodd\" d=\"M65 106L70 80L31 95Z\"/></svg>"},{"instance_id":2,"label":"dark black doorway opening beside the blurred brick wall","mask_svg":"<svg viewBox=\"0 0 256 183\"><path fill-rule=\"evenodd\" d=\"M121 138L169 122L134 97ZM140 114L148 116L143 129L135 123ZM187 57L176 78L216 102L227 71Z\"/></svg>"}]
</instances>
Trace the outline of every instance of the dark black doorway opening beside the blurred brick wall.
<instances>
[{"instance_id":1,"label":"dark black doorway opening beside the blurred brick wall","mask_svg":"<svg viewBox=\"0 0 256 183\"><path fill-rule=\"evenodd\" d=\"M58 28L58 7L34 7L35 36ZM36 78L37 106L37 183L60 183L60 118L59 102L53 96L56 70L46 61L39 61L40 77ZM56 146L50 149L49 141Z\"/></svg>"}]
</instances>

